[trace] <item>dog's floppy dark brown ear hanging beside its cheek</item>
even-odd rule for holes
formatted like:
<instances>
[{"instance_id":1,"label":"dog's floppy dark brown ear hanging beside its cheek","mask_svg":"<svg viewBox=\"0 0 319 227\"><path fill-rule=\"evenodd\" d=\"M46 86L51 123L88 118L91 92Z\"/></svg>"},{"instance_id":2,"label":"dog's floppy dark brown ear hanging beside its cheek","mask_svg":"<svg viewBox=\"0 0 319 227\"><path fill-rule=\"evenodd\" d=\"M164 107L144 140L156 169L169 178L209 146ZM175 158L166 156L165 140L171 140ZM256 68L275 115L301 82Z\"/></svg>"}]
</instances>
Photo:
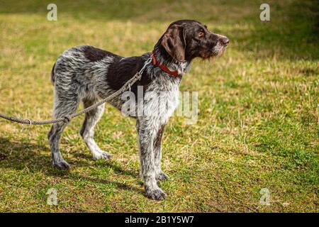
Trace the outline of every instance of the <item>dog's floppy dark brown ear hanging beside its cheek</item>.
<instances>
[{"instance_id":1,"label":"dog's floppy dark brown ear hanging beside its cheek","mask_svg":"<svg viewBox=\"0 0 319 227\"><path fill-rule=\"evenodd\" d=\"M167 31L162 37L162 46L165 50L179 62L185 60L185 37L184 28L178 25L172 25L167 28Z\"/></svg>"}]
</instances>

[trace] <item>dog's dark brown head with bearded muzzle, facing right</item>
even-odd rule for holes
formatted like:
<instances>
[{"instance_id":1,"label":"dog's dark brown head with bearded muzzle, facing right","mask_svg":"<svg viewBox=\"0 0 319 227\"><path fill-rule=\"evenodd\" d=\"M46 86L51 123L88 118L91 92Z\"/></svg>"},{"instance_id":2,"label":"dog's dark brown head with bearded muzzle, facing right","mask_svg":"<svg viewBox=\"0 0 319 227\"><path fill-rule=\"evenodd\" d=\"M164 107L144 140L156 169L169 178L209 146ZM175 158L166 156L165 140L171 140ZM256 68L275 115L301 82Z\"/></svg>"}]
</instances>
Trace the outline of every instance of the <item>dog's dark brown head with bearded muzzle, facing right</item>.
<instances>
[{"instance_id":1,"label":"dog's dark brown head with bearded muzzle, facing right","mask_svg":"<svg viewBox=\"0 0 319 227\"><path fill-rule=\"evenodd\" d=\"M193 20L175 21L159 39L155 48L167 52L173 60L191 61L195 57L209 59L223 54L229 39L208 31L203 23Z\"/></svg>"}]
</instances>

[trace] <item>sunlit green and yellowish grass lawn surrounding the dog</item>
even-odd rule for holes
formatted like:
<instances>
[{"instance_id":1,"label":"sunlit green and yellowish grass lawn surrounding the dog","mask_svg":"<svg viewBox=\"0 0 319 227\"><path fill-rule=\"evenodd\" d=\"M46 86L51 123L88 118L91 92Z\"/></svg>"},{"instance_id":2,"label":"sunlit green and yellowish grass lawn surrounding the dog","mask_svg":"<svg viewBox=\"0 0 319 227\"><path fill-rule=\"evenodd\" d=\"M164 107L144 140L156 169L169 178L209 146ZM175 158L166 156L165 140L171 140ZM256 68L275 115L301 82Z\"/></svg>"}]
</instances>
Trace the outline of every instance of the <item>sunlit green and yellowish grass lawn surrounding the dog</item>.
<instances>
[{"instance_id":1,"label":"sunlit green and yellowish grass lawn surrounding the dog","mask_svg":"<svg viewBox=\"0 0 319 227\"><path fill-rule=\"evenodd\" d=\"M70 172L51 167L49 126L0 121L1 212L318 212L318 4L268 1L0 1L1 113L50 118L50 70L60 53L84 43L141 55L168 24L203 21L228 35L214 64L196 60L182 91L198 91L196 124L174 116L165 129L162 166L168 197L144 196L135 121L108 106L96 141L113 160L91 160L79 137L83 116L62 138ZM317 13L317 14L316 14ZM47 205L57 189L58 206ZM259 204L267 188L271 205Z\"/></svg>"}]
</instances>

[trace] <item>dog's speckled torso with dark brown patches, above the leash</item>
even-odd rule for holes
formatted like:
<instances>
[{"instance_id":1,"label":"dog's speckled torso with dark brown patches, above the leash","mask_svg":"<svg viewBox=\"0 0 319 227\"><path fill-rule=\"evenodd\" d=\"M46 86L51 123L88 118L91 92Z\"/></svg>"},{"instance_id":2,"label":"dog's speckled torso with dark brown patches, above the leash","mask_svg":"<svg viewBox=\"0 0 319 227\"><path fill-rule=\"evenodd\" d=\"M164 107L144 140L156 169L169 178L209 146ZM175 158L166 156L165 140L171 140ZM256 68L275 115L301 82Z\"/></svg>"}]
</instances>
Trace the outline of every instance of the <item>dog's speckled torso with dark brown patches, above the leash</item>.
<instances>
[{"instance_id":1,"label":"dog's speckled torso with dark brown patches, above the leash","mask_svg":"<svg viewBox=\"0 0 319 227\"><path fill-rule=\"evenodd\" d=\"M140 70L149 54L140 57L121 57L89 45L70 48L60 55L52 68L51 81L55 85L56 99L103 99L120 89ZM131 91L137 97L138 86L147 89L152 75L143 73ZM120 97L109 102L121 109Z\"/></svg>"}]
</instances>

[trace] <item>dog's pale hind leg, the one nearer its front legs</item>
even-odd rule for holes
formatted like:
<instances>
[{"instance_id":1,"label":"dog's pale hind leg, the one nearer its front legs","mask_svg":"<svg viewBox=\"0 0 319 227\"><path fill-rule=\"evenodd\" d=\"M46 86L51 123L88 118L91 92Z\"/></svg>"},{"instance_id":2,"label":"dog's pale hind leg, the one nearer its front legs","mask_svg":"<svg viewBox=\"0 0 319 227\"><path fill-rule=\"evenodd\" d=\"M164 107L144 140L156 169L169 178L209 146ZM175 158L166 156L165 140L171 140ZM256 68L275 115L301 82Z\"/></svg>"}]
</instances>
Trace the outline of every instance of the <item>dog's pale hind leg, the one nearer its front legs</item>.
<instances>
[{"instance_id":1,"label":"dog's pale hind leg, the one nearer its front legs","mask_svg":"<svg viewBox=\"0 0 319 227\"><path fill-rule=\"evenodd\" d=\"M84 108L93 105L94 101L84 99ZM111 154L101 150L94 141L94 126L96 126L96 123L101 119L101 116L104 112L104 106L105 104L102 104L101 106L96 107L96 109L93 109L85 114L84 123L80 131L80 135L84 139L89 150L91 150L93 158L96 160L111 158Z\"/></svg>"}]
</instances>

